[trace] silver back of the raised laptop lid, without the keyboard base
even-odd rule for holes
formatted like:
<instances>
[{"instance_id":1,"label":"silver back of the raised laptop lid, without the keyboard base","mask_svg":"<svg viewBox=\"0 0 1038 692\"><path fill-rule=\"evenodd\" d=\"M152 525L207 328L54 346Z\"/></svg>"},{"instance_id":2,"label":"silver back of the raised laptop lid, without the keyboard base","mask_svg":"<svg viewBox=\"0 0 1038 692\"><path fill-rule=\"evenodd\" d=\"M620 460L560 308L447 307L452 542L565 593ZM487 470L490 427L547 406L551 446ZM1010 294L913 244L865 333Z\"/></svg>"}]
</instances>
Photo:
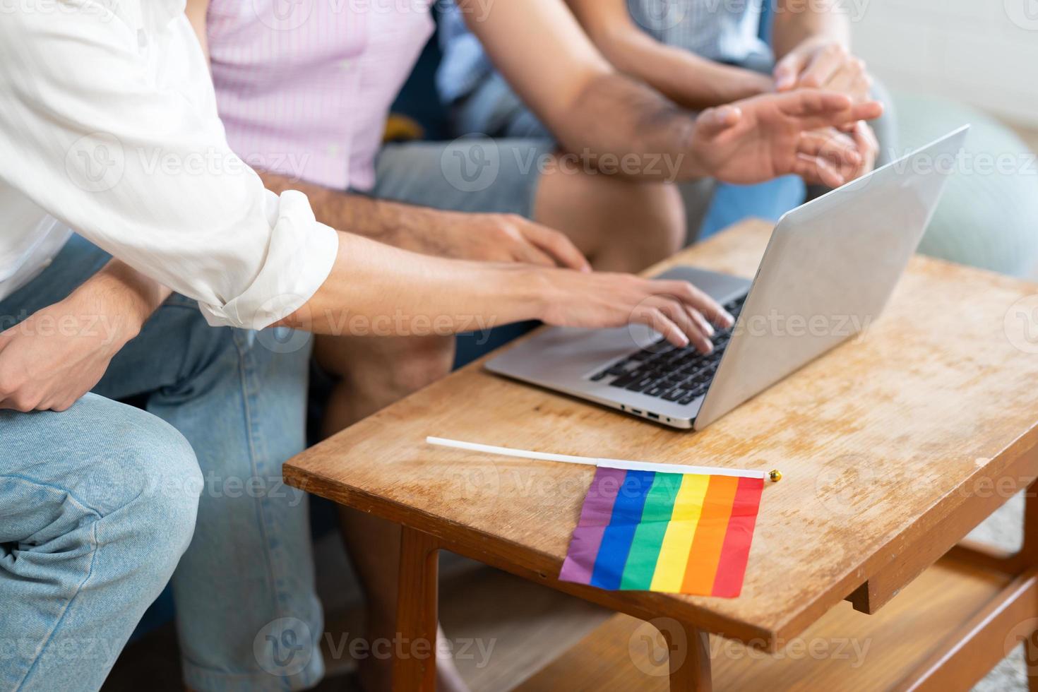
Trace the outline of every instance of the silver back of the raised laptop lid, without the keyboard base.
<instances>
[{"instance_id":1,"label":"silver back of the raised laptop lid, without the keyboard base","mask_svg":"<svg viewBox=\"0 0 1038 692\"><path fill-rule=\"evenodd\" d=\"M879 316L933 217L967 131L780 219L696 430Z\"/></svg>"}]
</instances>

